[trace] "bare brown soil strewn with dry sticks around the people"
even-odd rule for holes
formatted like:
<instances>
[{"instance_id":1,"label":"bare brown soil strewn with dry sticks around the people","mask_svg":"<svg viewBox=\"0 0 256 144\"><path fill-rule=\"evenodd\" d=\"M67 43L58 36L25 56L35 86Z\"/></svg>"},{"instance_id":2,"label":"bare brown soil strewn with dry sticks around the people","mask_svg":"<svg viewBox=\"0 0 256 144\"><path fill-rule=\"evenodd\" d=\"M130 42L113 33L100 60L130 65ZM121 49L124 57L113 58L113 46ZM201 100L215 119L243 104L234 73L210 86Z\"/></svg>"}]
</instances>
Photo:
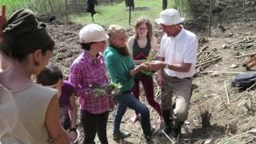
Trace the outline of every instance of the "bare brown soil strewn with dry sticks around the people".
<instances>
[{"instance_id":1,"label":"bare brown soil strewn with dry sticks around the people","mask_svg":"<svg viewBox=\"0 0 256 144\"><path fill-rule=\"evenodd\" d=\"M213 50L222 58L221 61L212 63L203 71L225 71L225 72L242 72L246 71L242 67L242 62L246 57L243 54L250 54L255 51L256 42L248 48L232 48L234 45L222 48L223 44L241 41L244 38L256 37L256 22L241 22L230 23L225 27L228 30L225 33L220 32L217 28L212 29L212 36L207 37L206 32L202 28L184 25L188 30L193 31L200 39L199 50L208 46L206 50ZM74 23L53 23L48 26L50 34L56 42L56 50L54 51L51 62L59 66L64 74L68 76L69 68L74 58L82 52L78 43L78 31L82 26ZM131 35L132 30L127 30L127 34ZM233 34L232 36L230 36ZM155 36L160 41L162 31L155 26ZM241 56L236 58L236 56ZM230 67L232 64L238 65L236 68ZM187 122L182 126L182 135L179 138L180 143L218 143L231 138L237 134L242 134L247 130L256 129L256 118L254 116L256 111L256 98L254 90L248 90L244 93L238 93L238 90L230 86L231 79L235 74L222 73L198 73L193 78L194 92L190 101L190 114ZM227 104L226 87L230 96L230 106ZM159 101L161 94L159 87L155 86L155 97ZM239 97L239 98L238 98ZM237 101L233 100L238 98ZM151 125L158 127L156 123L158 114L148 105L146 98L141 96L141 101L150 108ZM246 104L250 109L246 108ZM210 113L210 126L202 128L202 112ZM112 143L146 143L142 137L142 129L139 122L131 123L130 118L134 115L133 110L127 110L125 116L122 118L122 129L131 133L130 138L126 138L122 142L114 142L112 140L113 118L114 112L110 113L108 122L108 138ZM171 143L164 134L156 134L154 136L155 143ZM98 140L96 142L100 143ZM242 134L236 138L232 138L222 143L256 143L256 134Z\"/></svg>"}]
</instances>

